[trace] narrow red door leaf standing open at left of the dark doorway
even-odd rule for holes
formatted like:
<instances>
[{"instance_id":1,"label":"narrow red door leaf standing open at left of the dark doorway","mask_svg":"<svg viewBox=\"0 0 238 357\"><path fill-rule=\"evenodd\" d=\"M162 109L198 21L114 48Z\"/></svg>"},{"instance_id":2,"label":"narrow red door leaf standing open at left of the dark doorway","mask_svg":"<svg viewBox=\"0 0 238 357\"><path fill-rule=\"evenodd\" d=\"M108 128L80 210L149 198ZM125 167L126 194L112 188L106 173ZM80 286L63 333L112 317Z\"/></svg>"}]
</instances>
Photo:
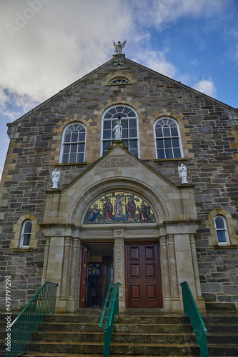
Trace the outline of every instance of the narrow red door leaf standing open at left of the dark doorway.
<instances>
[{"instance_id":1,"label":"narrow red door leaf standing open at left of the dark doorway","mask_svg":"<svg viewBox=\"0 0 238 357\"><path fill-rule=\"evenodd\" d=\"M83 244L82 250L82 263L81 263L81 283L80 283L80 296L79 307L86 308L87 288L88 288L88 265L89 265L89 248Z\"/></svg>"}]
</instances>

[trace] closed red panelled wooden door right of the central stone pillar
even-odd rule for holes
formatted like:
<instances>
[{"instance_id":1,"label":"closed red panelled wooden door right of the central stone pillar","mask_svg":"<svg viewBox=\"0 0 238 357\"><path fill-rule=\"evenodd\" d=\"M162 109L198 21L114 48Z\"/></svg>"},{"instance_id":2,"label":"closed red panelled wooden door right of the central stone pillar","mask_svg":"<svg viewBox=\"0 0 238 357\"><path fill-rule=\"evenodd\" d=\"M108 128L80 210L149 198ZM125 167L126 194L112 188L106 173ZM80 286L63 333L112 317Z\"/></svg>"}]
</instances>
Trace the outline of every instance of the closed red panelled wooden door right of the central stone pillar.
<instances>
[{"instance_id":1,"label":"closed red panelled wooden door right of the central stone pillar","mask_svg":"<svg viewBox=\"0 0 238 357\"><path fill-rule=\"evenodd\" d=\"M126 245L127 308L162 308L158 243Z\"/></svg>"}]
</instances>

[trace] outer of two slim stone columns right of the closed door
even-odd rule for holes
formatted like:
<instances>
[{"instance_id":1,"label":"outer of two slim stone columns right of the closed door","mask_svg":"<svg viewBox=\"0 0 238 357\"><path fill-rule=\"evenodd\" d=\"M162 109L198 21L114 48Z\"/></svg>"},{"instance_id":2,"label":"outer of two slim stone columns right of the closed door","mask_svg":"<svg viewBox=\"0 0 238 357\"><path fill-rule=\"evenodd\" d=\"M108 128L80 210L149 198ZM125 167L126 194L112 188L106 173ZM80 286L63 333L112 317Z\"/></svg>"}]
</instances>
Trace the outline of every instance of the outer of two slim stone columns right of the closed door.
<instances>
[{"instance_id":1,"label":"outer of two slim stone columns right of the closed door","mask_svg":"<svg viewBox=\"0 0 238 357\"><path fill-rule=\"evenodd\" d=\"M169 246L169 270L172 282L172 298L179 298L179 285L178 285L178 273L177 263L175 256L174 235L169 234L167 236Z\"/></svg>"}]
</instances>

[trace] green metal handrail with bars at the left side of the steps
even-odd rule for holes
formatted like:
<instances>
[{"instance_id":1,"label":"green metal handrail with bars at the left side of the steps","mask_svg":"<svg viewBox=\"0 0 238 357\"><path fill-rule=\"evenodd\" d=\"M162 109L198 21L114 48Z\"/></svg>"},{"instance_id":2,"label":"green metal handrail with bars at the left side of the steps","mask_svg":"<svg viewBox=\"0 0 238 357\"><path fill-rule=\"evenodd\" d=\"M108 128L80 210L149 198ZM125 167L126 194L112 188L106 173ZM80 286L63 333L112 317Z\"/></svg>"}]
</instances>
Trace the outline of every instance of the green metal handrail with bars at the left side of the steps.
<instances>
[{"instance_id":1,"label":"green metal handrail with bars at the left side of the steps","mask_svg":"<svg viewBox=\"0 0 238 357\"><path fill-rule=\"evenodd\" d=\"M16 357L24 352L26 342L31 341L32 333L38 330L43 316L55 312L57 286L57 283L46 281L11 323L11 348L6 350L6 356Z\"/></svg>"}]
</instances>

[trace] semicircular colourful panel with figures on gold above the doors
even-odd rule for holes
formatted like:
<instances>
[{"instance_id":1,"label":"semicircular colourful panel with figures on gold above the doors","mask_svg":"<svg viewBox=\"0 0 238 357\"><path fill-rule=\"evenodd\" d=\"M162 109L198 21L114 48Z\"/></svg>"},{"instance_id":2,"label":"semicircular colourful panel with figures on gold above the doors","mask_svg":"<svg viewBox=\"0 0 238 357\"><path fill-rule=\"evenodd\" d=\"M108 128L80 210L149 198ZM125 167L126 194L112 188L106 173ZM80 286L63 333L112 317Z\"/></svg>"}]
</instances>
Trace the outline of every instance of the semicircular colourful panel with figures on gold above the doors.
<instances>
[{"instance_id":1,"label":"semicircular colourful panel with figures on gold above the doors","mask_svg":"<svg viewBox=\"0 0 238 357\"><path fill-rule=\"evenodd\" d=\"M139 196L117 191L98 198L86 211L85 224L155 222L154 212Z\"/></svg>"}]
</instances>

